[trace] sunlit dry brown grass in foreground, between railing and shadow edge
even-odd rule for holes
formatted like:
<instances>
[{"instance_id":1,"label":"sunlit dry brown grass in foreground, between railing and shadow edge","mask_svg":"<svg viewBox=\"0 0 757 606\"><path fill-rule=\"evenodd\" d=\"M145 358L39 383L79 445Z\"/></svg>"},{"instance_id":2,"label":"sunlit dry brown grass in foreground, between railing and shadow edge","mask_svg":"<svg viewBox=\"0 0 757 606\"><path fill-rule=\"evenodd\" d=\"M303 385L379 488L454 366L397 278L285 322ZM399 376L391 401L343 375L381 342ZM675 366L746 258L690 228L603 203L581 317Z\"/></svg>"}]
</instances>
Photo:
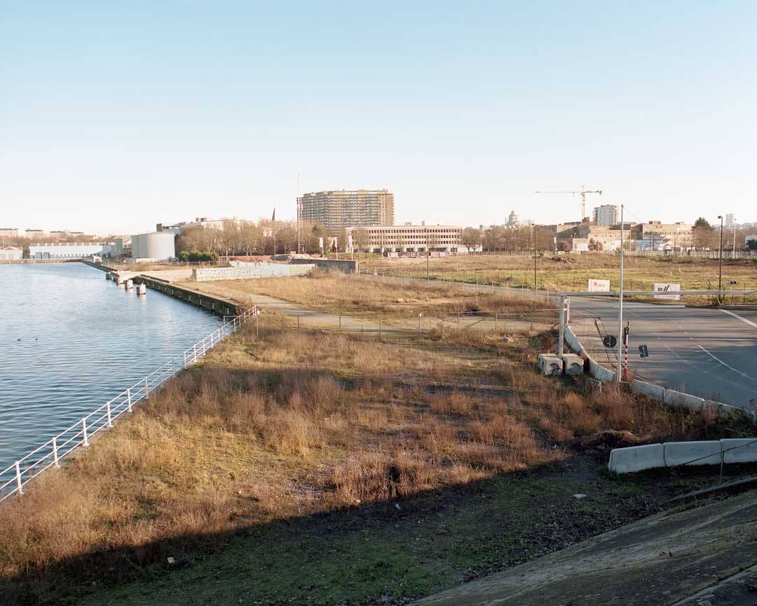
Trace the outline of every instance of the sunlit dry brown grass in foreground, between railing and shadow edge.
<instances>
[{"instance_id":1,"label":"sunlit dry brown grass in foreground, between railing and shadow edge","mask_svg":"<svg viewBox=\"0 0 757 606\"><path fill-rule=\"evenodd\" d=\"M584 398L506 351L243 330L2 504L0 572L219 548L244 526L549 464L575 436L677 439L709 422L612 390Z\"/></svg>"}]
</instances>

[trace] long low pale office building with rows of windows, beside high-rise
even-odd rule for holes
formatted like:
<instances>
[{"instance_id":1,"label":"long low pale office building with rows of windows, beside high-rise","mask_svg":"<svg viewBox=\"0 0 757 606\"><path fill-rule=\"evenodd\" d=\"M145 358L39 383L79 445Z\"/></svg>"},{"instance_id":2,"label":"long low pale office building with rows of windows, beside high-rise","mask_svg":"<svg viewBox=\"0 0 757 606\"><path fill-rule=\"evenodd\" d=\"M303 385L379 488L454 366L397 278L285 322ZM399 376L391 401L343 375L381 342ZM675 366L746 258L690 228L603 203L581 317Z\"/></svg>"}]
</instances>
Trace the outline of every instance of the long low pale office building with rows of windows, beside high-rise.
<instances>
[{"instance_id":1,"label":"long low pale office building with rows of windows, beside high-rise","mask_svg":"<svg viewBox=\"0 0 757 606\"><path fill-rule=\"evenodd\" d=\"M463 247L463 228L451 225L372 225L348 227L347 233L356 249L360 245L369 252L457 252ZM368 242L358 241L363 235Z\"/></svg>"}]
</instances>

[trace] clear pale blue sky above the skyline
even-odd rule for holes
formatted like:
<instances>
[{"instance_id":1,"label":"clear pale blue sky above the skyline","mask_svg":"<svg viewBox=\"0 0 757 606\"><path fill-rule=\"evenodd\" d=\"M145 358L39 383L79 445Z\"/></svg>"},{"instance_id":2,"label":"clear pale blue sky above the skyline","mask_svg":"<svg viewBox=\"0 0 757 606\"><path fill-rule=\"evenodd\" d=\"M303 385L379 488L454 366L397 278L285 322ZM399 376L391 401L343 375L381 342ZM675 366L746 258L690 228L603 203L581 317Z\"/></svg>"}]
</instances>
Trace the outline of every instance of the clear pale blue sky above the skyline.
<instances>
[{"instance_id":1,"label":"clear pale blue sky above the skyline","mask_svg":"<svg viewBox=\"0 0 757 606\"><path fill-rule=\"evenodd\" d=\"M0 224L757 220L757 2L6 2Z\"/></svg>"}]
</instances>

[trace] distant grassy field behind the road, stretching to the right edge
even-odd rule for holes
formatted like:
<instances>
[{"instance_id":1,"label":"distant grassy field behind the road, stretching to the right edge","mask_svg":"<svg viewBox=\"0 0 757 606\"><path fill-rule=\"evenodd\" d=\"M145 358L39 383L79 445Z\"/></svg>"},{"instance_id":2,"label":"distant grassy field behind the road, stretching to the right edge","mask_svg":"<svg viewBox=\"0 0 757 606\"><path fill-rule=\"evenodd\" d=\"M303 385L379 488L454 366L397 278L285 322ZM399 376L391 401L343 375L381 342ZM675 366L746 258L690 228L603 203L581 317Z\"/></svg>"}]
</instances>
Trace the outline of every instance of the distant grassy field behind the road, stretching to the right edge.
<instances>
[{"instance_id":1,"label":"distant grassy field behind the road, stretching to the right edge","mask_svg":"<svg viewBox=\"0 0 757 606\"><path fill-rule=\"evenodd\" d=\"M361 271L426 277L426 259L384 259L362 264ZM534 258L519 255L456 255L431 258L436 280L534 287ZM537 286L551 291L585 291L588 280L610 280L618 288L617 255L544 255L537 258ZM731 286L731 280L737 284ZM651 290L655 282L680 283L682 290L718 288L718 261L680 257L625 257L626 290ZM724 260L724 289L757 289L757 261ZM752 297L752 302L757 301ZM730 299L729 299L730 302ZM741 302L741 298L737 301Z\"/></svg>"}]
</instances>

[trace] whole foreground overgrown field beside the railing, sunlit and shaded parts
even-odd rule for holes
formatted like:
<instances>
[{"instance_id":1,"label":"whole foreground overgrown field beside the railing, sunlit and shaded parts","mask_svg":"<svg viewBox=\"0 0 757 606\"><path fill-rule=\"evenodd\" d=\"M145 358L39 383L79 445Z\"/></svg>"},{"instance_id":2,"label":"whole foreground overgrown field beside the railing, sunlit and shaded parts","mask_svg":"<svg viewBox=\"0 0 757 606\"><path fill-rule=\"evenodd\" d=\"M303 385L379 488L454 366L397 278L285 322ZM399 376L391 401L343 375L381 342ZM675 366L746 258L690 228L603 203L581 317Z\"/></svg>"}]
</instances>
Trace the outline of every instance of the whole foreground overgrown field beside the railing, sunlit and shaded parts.
<instances>
[{"instance_id":1,"label":"whole foreground overgrown field beside the railing, sunlit and shaded parts","mask_svg":"<svg viewBox=\"0 0 757 606\"><path fill-rule=\"evenodd\" d=\"M0 601L401 601L655 506L576 438L721 430L612 389L579 395L519 342L248 327L0 506Z\"/></svg>"}]
</instances>

